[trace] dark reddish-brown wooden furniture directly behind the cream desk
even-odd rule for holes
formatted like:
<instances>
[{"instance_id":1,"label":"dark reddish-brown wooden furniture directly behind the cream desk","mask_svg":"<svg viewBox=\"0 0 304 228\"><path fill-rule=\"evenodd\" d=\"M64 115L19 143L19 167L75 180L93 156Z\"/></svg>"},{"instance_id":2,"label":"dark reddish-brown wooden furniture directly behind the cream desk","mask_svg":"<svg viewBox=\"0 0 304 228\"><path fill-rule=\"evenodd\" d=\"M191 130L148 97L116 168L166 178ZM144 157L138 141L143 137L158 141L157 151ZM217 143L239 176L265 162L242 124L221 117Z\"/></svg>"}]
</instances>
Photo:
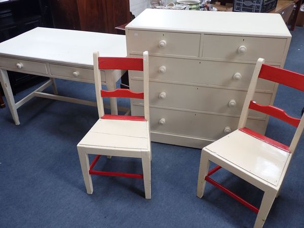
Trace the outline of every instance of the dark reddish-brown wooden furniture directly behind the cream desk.
<instances>
[{"instance_id":1,"label":"dark reddish-brown wooden furniture directly behind the cream desk","mask_svg":"<svg viewBox=\"0 0 304 228\"><path fill-rule=\"evenodd\" d=\"M117 33L130 22L129 0L49 0L55 28Z\"/></svg>"}]
</instances>

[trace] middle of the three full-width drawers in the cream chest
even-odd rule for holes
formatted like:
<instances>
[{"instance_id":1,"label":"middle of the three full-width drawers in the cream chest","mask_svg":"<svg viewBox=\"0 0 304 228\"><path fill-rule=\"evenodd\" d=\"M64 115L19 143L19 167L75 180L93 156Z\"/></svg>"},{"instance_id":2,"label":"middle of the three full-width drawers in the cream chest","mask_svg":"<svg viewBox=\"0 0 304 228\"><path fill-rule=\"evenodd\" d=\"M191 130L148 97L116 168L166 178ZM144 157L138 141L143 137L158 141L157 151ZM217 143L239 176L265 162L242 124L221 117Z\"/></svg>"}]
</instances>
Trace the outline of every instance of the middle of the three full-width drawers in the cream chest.
<instances>
[{"instance_id":1,"label":"middle of the three full-width drawers in the cream chest","mask_svg":"<svg viewBox=\"0 0 304 228\"><path fill-rule=\"evenodd\" d=\"M142 91L142 81L132 80L131 89ZM184 108L199 111L241 115L247 91L220 89L213 87L188 86L170 83L149 83L149 100L151 105ZM268 105L272 93L255 93L254 100ZM133 103L142 103L134 99ZM261 112L251 110L249 116L266 118Z\"/></svg>"}]
</instances>

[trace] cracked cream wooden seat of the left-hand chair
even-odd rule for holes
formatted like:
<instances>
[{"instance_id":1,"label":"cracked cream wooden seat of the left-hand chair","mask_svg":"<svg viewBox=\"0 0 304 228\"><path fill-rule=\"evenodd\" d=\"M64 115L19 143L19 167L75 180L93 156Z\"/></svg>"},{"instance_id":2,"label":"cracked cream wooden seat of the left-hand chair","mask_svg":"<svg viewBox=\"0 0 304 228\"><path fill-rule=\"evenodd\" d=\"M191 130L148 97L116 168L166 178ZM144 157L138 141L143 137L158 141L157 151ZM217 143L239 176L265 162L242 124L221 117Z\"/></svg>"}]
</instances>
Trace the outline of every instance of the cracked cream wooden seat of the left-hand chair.
<instances>
[{"instance_id":1,"label":"cracked cream wooden seat of the left-hand chair","mask_svg":"<svg viewBox=\"0 0 304 228\"><path fill-rule=\"evenodd\" d=\"M79 142L81 146L107 147L108 149L147 150L149 131L147 121L99 119Z\"/></svg>"}]
</instances>

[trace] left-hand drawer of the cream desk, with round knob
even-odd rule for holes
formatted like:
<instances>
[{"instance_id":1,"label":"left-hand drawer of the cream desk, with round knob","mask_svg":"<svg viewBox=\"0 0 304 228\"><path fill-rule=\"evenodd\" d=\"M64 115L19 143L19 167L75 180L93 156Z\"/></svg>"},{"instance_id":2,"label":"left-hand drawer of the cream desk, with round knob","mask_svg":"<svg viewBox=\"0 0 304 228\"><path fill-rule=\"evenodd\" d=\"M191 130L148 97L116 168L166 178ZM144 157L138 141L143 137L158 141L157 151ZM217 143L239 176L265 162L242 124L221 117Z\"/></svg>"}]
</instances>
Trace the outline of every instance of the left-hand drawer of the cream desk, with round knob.
<instances>
[{"instance_id":1,"label":"left-hand drawer of the cream desk, with round knob","mask_svg":"<svg viewBox=\"0 0 304 228\"><path fill-rule=\"evenodd\" d=\"M33 73L48 74L47 66L43 62L27 61L23 59L13 59L0 57L0 66L15 71L26 71Z\"/></svg>"}]
</instances>

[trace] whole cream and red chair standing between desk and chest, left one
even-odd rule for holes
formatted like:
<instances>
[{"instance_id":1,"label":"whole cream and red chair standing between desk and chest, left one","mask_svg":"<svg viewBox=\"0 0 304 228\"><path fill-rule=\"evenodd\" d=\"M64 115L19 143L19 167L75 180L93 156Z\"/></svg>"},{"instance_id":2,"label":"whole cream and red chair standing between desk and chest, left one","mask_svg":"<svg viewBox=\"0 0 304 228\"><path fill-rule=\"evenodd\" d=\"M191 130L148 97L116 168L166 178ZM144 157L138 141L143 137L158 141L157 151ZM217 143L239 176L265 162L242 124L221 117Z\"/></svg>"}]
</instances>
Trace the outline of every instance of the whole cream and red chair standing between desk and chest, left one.
<instances>
[{"instance_id":1,"label":"whole cream and red chair standing between desk and chest, left one","mask_svg":"<svg viewBox=\"0 0 304 228\"><path fill-rule=\"evenodd\" d=\"M93 193L91 175L108 175L143 178L145 198L151 198L151 143L149 128L148 97L148 52L143 58L99 57L93 54L95 90L99 120L77 145L82 173L87 193ZM143 71L143 92L135 93L129 89L115 91L101 90L100 69L124 69ZM144 117L105 115L102 97L129 97L143 99ZM89 165L88 154L97 155ZM100 155L141 158L143 174L104 172L93 170Z\"/></svg>"}]
</instances>

